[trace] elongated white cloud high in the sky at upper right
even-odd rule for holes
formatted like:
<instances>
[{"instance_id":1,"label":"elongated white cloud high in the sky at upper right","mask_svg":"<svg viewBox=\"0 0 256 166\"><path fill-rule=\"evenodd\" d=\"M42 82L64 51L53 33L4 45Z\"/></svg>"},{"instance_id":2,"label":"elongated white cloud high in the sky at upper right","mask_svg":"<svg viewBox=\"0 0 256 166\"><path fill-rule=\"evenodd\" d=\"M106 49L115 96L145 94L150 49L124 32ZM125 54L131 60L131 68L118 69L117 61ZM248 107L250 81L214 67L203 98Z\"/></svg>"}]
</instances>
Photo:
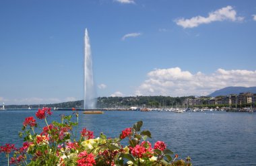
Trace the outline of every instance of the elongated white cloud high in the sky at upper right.
<instances>
[{"instance_id":1,"label":"elongated white cloud high in the sky at upper right","mask_svg":"<svg viewBox=\"0 0 256 166\"><path fill-rule=\"evenodd\" d=\"M201 15L192 17L191 19L177 19L175 20L176 24L182 26L183 28L194 28L200 24L210 24L211 22L222 22L224 20L243 21L243 17L237 17L236 11L231 6L222 7L216 11L210 12L208 17L203 17Z\"/></svg>"}]
</instances>

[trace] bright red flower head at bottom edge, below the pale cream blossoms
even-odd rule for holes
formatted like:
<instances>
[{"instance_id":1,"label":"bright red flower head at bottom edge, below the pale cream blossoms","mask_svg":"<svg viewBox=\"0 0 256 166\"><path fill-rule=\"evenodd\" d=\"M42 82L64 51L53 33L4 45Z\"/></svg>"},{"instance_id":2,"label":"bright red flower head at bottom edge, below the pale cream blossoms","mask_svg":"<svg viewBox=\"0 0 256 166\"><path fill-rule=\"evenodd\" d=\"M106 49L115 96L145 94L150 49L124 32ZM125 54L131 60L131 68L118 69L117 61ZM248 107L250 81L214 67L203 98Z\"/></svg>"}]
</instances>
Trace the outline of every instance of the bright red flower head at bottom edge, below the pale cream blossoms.
<instances>
[{"instance_id":1,"label":"bright red flower head at bottom edge, below the pale cream blossoms","mask_svg":"<svg viewBox=\"0 0 256 166\"><path fill-rule=\"evenodd\" d=\"M78 166L96 165L96 161L94 160L94 155L92 153L88 154L86 151L83 151L82 153L79 153L78 157Z\"/></svg>"}]
</instances>

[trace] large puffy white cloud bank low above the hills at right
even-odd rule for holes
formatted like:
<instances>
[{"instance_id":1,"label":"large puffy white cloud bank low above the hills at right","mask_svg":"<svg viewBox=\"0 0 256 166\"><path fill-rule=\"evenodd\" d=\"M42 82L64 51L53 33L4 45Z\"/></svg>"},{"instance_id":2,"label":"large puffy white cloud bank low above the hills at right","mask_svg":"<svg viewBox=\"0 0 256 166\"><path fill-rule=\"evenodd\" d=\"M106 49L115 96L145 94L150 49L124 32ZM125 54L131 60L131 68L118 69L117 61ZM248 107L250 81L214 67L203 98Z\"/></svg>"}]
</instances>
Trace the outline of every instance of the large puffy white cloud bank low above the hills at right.
<instances>
[{"instance_id":1,"label":"large puffy white cloud bank low above the hills at right","mask_svg":"<svg viewBox=\"0 0 256 166\"><path fill-rule=\"evenodd\" d=\"M179 67L155 69L135 91L135 95L209 95L228 86L256 86L256 71L218 69L205 75L181 71Z\"/></svg>"}]
</instances>

